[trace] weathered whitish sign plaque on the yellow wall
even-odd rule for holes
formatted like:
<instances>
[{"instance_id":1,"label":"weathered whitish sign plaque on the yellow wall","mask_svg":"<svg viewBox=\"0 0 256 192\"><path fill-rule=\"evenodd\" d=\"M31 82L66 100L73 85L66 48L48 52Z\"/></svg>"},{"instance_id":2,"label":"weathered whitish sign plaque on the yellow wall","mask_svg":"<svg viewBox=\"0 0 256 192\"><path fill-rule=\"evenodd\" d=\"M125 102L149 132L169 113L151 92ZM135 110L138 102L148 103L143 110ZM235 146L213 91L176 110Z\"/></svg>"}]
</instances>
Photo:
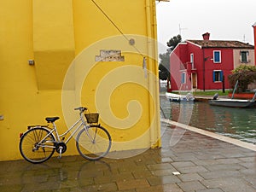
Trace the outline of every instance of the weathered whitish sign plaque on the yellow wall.
<instances>
[{"instance_id":1,"label":"weathered whitish sign plaque on the yellow wall","mask_svg":"<svg viewBox=\"0 0 256 192\"><path fill-rule=\"evenodd\" d=\"M122 56L121 50L102 49L100 55L96 55L95 61L125 61L125 56Z\"/></svg>"}]
</instances>

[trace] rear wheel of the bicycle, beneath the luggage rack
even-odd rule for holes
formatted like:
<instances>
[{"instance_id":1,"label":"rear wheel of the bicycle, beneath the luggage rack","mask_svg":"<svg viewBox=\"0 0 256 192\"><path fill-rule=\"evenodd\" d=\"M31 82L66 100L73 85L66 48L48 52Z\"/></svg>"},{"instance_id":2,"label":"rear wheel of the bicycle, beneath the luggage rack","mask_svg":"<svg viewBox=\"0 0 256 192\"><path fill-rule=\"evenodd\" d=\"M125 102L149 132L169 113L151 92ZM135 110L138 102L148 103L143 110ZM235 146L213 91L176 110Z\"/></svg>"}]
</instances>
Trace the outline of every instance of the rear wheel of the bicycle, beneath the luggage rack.
<instances>
[{"instance_id":1,"label":"rear wheel of the bicycle, beneath the luggage rack","mask_svg":"<svg viewBox=\"0 0 256 192\"><path fill-rule=\"evenodd\" d=\"M20 154L22 157L34 164L49 160L55 152L55 136L50 133L49 137L46 138L49 143L44 143L44 147L36 147L36 144L48 134L49 130L44 127L35 127L26 131L20 138Z\"/></svg>"}]
</instances>

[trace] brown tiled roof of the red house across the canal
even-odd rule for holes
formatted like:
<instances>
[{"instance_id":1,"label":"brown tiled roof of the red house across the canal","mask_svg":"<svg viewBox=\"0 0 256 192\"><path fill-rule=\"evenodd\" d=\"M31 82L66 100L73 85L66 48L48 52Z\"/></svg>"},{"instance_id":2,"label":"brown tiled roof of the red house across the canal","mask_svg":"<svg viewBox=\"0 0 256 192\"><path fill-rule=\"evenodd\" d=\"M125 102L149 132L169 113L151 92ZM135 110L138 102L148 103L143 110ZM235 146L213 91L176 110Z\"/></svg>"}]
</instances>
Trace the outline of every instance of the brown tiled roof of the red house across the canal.
<instances>
[{"instance_id":1,"label":"brown tiled roof of the red house across the canal","mask_svg":"<svg viewBox=\"0 0 256 192\"><path fill-rule=\"evenodd\" d=\"M218 41L218 40L187 40L202 48L232 48L232 49L254 49L254 46L240 41Z\"/></svg>"}]
</instances>

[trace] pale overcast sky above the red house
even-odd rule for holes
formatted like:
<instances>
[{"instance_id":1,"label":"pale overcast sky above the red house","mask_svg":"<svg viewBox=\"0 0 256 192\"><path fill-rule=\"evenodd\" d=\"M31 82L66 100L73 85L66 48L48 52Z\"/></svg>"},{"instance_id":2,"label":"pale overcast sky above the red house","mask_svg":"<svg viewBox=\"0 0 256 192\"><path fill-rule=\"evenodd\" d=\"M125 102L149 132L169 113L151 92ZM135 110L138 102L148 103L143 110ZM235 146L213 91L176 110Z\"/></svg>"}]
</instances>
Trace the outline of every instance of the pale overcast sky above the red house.
<instances>
[{"instance_id":1,"label":"pale overcast sky above the red house","mask_svg":"<svg viewBox=\"0 0 256 192\"><path fill-rule=\"evenodd\" d=\"M170 0L157 3L156 10L160 44L180 32L183 40L201 40L209 32L212 40L254 44L256 0Z\"/></svg>"}]
</instances>

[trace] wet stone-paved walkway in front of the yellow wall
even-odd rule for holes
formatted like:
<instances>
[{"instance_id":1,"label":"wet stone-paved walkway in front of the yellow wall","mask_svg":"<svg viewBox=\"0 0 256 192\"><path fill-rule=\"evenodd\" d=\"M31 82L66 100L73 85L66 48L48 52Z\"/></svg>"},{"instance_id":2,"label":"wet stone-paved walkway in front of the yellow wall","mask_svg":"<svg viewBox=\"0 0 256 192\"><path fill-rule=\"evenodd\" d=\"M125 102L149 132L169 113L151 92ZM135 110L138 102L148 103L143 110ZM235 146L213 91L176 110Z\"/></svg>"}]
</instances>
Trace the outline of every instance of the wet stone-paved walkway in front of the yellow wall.
<instances>
[{"instance_id":1,"label":"wet stone-paved walkway in front of the yellow wall","mask_svg":"<svg viewBox=\"0 0 256 192\"><path fill-rule=\"evenodd\" d=\"M127 159L2 161L0 191L255 192L256 152L168 126L162 148Z\"/></svg>"}]
</instances>

